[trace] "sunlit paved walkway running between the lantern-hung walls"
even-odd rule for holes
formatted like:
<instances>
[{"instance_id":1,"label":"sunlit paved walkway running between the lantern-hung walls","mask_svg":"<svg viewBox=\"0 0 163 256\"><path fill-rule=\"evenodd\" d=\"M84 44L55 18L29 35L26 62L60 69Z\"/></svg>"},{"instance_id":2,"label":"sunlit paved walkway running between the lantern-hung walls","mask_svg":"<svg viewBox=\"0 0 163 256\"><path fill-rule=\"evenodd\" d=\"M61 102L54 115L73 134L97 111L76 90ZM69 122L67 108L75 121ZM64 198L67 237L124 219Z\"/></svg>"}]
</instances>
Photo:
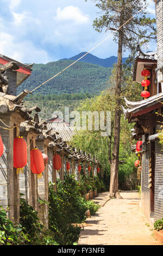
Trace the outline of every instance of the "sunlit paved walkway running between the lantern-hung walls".
<instances>
[{"instance_id":1,"label":"sunlit paved walkway running between the lantern-hung walls","mask_svg":"<svg viewBox=\"0 0 163 256\"><path fill-rule=\"evenodd\" d=\"M121 192L123 199L109 199L101 193L93 201L100 202L96 215L87 218L80 232L79 245L159 245L152 236L142 214L137 192Z\"/></svg>"}]
</instances>

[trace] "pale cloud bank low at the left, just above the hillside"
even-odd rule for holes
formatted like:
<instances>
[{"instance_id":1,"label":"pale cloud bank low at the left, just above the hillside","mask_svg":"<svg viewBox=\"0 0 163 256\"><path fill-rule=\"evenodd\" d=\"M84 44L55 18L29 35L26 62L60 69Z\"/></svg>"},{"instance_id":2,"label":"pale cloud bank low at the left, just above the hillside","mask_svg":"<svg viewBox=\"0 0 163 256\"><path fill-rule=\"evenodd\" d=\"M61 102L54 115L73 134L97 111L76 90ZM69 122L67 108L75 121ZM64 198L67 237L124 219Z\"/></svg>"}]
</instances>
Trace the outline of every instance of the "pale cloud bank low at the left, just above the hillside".
<instances>
[{"instance_id":1,"label":"pale cloud bank low at the left, just above the hillside","mask_svg":"<svg viewBox=\"0 0 163 256\"><path fill-rule=\"evenodd\" d=\"M45 50L38 49L31 41L17 42L14 36L0 33L0 53L23 63L48 62L48 54Z\"/></svg>"}]
</instances>

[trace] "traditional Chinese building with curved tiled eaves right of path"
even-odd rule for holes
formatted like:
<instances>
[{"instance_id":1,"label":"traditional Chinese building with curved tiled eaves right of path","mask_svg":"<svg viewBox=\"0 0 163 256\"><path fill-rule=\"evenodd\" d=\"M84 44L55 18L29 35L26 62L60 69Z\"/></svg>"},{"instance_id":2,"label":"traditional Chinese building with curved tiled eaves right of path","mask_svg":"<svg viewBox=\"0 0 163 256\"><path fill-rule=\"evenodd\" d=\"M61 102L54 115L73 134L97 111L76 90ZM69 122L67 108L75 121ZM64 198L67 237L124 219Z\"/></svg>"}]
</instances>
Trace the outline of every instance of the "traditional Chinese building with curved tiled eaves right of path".
<instances>
[{"instance_id":1,"label":"traditional Chinese building with curved tiled eaves right of path","mask_svg":"<svg viewBox=\"0 0 163 256\"><path fill-rule=\"evenodd\" d=\"M158 49L144 53L137 47L133 80L142 84L144 99L131 102L124 97L125 118L134 123L131 138L142 141L141 208L152 222L163 217L163 151L158 132L163 124L163 3L156 5Z\"/></svg>"}]
</instances>

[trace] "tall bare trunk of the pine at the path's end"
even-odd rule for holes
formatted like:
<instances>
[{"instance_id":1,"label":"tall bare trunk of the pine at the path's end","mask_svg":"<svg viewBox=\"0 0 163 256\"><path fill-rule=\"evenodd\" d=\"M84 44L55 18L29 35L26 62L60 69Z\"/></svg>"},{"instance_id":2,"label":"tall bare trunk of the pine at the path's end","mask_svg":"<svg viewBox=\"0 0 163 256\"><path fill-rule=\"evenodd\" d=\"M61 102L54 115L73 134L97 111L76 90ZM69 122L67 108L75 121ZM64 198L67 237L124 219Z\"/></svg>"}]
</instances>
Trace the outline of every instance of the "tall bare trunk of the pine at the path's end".
<instances>
[{"instance_id":1,"label":"tall bare trunk of the pine at the path's end","mask_svg":"<svg viewBox=\"0 0 163 256\"><path fill-rule=\"evenodd\" d=\"M122 17L122 15L121 15ZM120 26L122 25L120 21ZM122 44L123 44L123 28L119 30L118 53L117 53L117 72L115 87L115 126L114 126L114 143L112 149L111 170L110 170L110 196L121 199L118 192L118 162L120 148L120 121L121 121L121 78L122 78Z\"/></svg>"}]
</instances>

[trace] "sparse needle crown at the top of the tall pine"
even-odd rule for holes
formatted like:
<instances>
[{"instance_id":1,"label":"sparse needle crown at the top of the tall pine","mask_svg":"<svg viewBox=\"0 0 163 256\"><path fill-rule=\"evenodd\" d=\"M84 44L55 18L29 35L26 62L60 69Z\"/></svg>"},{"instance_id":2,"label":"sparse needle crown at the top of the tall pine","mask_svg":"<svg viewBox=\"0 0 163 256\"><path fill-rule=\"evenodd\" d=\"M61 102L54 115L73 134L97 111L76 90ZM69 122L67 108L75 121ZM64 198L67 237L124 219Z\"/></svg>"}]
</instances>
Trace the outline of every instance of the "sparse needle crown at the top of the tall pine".
<instances>
[{"instance_id":1,"label":"sparse needle crown at the top of the tall pine","mask_svg":"<svg viewBox=\"0 0 163 256\"><path fill-rule=\"evenodd\" d=\"M131 51L135 50L137 44L142 45L149 40L156 40L156 21L148 16L147 8L142 9L147 4L146 0L95 0L95 2L97 2L96 7L101 10L101 16L93 21L96 31L113 31L116 42L122 31L123 47ZM115 32L123 24L124 26Z\"/></svg>"}]
</instances>

